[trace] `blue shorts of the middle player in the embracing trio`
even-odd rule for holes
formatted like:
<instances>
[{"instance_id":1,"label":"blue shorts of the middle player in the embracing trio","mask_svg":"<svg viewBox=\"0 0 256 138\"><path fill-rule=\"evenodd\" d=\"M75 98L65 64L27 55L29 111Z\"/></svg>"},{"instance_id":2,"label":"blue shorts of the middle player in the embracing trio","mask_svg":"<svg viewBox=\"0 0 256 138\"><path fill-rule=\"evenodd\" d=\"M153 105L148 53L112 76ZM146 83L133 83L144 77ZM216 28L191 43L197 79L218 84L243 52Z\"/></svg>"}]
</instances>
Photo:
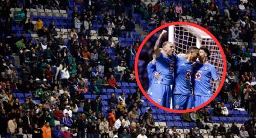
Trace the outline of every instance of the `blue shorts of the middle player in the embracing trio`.
<instances>
[{"instance_id":1,"label":"blue shorts of the middle player in the embracing trio","mask_svg":"<svg viewBox=\"0 0 256 138\"><path fill-rule=\"evenodd\" d=\"M172 106L173 110L192 109L193 97L192 95L173 94Z\"/></svg>"}]
</instances>

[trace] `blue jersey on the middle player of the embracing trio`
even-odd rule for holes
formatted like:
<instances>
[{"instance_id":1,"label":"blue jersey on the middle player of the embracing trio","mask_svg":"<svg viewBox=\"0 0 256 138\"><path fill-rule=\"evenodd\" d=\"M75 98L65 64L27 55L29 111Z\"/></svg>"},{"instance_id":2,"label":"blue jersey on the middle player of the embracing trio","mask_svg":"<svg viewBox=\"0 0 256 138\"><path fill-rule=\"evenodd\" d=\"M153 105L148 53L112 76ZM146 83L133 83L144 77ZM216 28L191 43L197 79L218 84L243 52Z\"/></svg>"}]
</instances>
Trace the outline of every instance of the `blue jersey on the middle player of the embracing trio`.
<instances>
[{"instance_id":1,"label":"blue jersey on the middle player of the embracing trio","mask_svg":"<svg viewBox=\"0 0 256 138\"><path fill-rule=\"evenodd\" d=\"M192 95L190 86L193 83L193 63L183 57L177 57L174 70L173 94Z\"/></svg>"}]
</instances>

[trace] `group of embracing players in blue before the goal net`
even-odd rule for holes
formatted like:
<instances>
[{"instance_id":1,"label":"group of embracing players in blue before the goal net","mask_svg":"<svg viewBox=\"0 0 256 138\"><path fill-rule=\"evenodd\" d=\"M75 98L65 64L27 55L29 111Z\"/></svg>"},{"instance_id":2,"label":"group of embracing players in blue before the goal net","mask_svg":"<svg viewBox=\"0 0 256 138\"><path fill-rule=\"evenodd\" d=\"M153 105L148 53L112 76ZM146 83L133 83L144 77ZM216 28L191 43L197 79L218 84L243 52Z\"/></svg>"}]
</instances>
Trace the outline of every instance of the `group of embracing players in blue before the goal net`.
<instances>
[{"instance_id":1,"label":"group of embracing players in blue before the goal net","mask_svg":"<svg viewBox=\"0 0 256 138\"><path fill-rule=\"evenodd\" d=\"M205 47L191 46L186 55L175 56L175 46L160 41L167 31L163 30L155 43L155 57L148 64L148 95L161 106L186 110L200 106L213 95L211 79L219 86L216 68L207 62L210 52ZM199 58L199 61L196 59Z\"/></svg>"}]
</instances>

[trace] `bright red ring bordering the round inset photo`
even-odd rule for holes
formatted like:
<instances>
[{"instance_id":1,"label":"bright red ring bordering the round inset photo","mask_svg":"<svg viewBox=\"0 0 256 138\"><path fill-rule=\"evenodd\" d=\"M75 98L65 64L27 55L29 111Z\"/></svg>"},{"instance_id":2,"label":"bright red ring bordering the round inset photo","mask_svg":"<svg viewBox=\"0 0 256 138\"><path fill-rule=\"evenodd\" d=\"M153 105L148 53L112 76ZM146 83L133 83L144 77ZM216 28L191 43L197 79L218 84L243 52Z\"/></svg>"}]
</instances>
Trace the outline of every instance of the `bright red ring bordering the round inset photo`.
<instances>
[{"instance_id":1,"label":"bright red ring bordering the round inset photo","mask_svg":"<svg viewBox=\"0 0 256 138\"><path fill-rule=\"evenodd\" d=\"M222 80L220 82L220 85L219 85L219 88L217 88L217 91L215 92L215 94L210 98L210 100L208 100L206 103L204 104L201 104L200 106L198 107L195 107L193 109L187 109L187 110L173 110L173 109L169 109L167 107L163 107L163 106L160 106L159 104L155 103L154 100L152 100L148 94L145 92L145 90L143 89L142 87L142 83L140 83L140 79L139 79L139 74L138 74L138 61L139 61L139 56L140 56L140 52L142 51L142 48L144 46L144 44L146 43L146 41L148 41L148 39L154 35L156 32L160 31L161 29L163 28L166 28L168 26L171 26L171 25L189 25L189 26L193 26L195 28L198 28L198 29L201 29L202 31L204 31L205 33L207 33L208 35L210 35L211 38L213 38L213 40L216 42L217 46L219 47L219 50L221 52L221 55L222 55L222 58L223 58L223 75L222 75ZM173 22L173 23L167 23L166 25L163 25L163 26L160 26L158 27L157 29L155 29L154 31L152 31L143 41L142 41L142 44L140 44L140 47L139 47L139 50L136 54L136 58L135 58L135 76L136 76L136 80L137 80L137 83L139 85L139 88L140 90L142 91L143 95L145 95L145 97L152 103L154 104L155 106L159 107L160 109L163 109L163 110L166 110L166 111L169 111L169 112L173 112L173 113L187 113L187 112L193 112L193 111L196 111L196 110L199 110L201 109L202 107L204 106L207 106L207 104L209 104L216 96L217 94L219 94L220 92L220 89L222 88L223 86L223 83L225 82L225 77L226 77L226 58L225 58L225 54L224 54L224 51L222 49L222 47L220 46L220 43L219 41L217 41L217 38L214 37L213 34L211 34L209 31L207 31L206 29L202 28L201 26L199 25L196 25L194 23L188 23L188 22Z\"/></svg>"}]
</instances>

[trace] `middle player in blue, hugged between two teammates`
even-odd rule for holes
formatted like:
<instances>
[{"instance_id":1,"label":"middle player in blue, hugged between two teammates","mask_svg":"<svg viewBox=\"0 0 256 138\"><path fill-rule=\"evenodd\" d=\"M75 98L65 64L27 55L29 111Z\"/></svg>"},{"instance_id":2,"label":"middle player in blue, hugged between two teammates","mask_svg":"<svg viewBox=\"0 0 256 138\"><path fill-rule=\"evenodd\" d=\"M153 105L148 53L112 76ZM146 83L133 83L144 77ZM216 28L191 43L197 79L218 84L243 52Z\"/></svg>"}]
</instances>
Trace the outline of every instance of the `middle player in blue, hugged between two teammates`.
<instances>
[{"instance_id":1,"label":"middle player in blue, hugged between two teammates","mask_svg":"<svg viewBox=\"0 0 256 138\"><path fill-rule=\"evenodd\" d=\"M189 47L186 58L177 57L173 78L172 105L175 110L192 109L193 107L193 78L195 73L195 62L198 58L199 49L195 46Z\"/></svg>"}]
</instances>

